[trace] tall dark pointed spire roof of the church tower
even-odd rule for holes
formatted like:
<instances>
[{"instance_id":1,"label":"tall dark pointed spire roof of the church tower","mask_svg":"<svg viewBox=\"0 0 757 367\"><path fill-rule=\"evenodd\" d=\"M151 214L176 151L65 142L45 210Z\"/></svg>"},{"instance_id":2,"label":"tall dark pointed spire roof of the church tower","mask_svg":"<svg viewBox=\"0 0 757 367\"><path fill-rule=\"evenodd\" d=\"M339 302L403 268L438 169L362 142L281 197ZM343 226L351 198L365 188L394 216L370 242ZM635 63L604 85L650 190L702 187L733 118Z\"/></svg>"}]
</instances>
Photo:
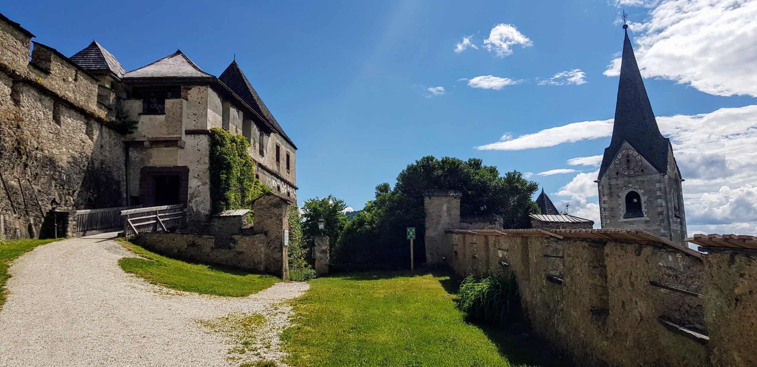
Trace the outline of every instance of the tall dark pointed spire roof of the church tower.
<instances>
[{"instance_id":1,"label":"tall dark pointed spire roof of the church tower","mask_svg":"<svg viewBox=\"0 0 757 367\"><path fill-rule=\"evenodd\" d=\"M624 26L624 28L627 28ZM615 103L615 123L612 126L612 140L605 149L600 167L599 179L612 164L615 154L624 141L628 141L641 156L660 173L668 171L668 147L670 140L660 134L650 98L641 78L639 66L625 31L623 56L621 58L618 100Z\"/></svg>"}]
</instances>

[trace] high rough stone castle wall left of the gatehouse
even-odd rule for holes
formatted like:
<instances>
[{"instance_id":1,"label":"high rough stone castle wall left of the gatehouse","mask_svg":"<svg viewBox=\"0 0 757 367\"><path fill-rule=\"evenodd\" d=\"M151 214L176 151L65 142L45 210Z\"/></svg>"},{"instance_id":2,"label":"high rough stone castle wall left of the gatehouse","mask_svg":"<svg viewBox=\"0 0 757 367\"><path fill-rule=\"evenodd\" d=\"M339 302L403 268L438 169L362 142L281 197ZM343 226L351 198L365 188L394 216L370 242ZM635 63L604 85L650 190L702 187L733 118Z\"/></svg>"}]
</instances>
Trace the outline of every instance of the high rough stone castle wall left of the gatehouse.
<instances>
[{"instance_id":1,"label":"high rough stone castle wall left of the gatehouse","mask_svg":"<svg viewBox=\"0 0 757 367\"><path fill-rule=\"evenodd\" d=\"M124 147L98 79L0 17L0 235L45 236L58 208L125 205Z\"/></svg>"}]
</instances>

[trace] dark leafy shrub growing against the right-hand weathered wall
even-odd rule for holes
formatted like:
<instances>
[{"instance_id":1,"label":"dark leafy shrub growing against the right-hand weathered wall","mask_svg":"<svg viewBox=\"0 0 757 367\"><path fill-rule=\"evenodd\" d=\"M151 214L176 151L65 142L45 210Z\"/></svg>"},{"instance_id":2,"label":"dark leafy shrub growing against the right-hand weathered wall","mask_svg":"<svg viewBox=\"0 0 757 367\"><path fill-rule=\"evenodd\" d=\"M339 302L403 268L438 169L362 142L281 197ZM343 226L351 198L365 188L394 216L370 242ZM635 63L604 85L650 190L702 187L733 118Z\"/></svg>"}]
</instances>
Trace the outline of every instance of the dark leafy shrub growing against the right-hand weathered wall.
<instances>
[{"instance_id":1,"label":"dark leafy shrub growing against the right-hand weathered wall","mask_svg":"<svg viewBox=\"0 0 757 367\"><path fill-rule=\"evenodd\" d=\"M511 325L522 317L516 278L501 270L491 271L485 277L466 277L457 298L457 307L475 322Z\"/></svg>"}]
</instances>

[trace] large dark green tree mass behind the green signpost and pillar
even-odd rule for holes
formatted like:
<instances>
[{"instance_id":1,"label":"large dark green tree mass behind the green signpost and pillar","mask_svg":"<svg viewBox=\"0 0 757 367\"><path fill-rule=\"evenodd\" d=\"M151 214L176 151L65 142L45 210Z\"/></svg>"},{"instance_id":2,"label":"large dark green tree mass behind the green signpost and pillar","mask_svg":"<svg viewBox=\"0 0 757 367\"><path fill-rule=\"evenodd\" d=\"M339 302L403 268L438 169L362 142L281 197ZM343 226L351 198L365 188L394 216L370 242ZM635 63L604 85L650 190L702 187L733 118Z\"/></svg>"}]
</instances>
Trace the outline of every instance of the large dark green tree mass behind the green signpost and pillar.
<instances>
[{"instance_id":1,"label":"large dark green tree mass behind the green signpost and pillar","mask_svg":"<svg viewBox=\"0 0 757 367\"><path fill-rule=\"evenodd\" d=\"M528 214L538 208L531 196L538 184L525 180L517 171L500 176L494 166L481 159L425 156L407 165L388 183L375 187L375 199L344 228L335 250L335 263L342 267L359 264L406 264L406 227L416 228L416 263L425 259L425 190L459 190L463 215L494 214L503 217L504 228L528 226Z\"/></svg>"}]
</instances>

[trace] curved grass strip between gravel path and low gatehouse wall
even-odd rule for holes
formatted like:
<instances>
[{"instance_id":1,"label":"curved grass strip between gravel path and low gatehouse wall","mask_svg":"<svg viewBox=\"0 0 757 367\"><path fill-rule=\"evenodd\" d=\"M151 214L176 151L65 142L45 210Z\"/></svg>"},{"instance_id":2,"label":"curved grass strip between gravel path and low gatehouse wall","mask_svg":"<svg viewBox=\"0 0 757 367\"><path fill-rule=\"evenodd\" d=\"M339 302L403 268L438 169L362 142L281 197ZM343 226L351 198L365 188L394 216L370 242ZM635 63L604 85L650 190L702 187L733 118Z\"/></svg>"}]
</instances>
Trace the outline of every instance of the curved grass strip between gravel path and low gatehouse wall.
<instances>
[{"instance_id":1,"label":"curved grass strip between gravel path and low gatehouse wall","mask_svg":"<svg viewBox=\"0 0 757 367\"><path fill-rule=\"evenodd\" d=\"M246 297L281 281L276 276L187 263L155 254L126 240L120 242L129 251L140 256L140 258L120 259L118 264L123 271L144 278L153 284L165 285L179 291Z\"/></svg>"}]
</instances>

